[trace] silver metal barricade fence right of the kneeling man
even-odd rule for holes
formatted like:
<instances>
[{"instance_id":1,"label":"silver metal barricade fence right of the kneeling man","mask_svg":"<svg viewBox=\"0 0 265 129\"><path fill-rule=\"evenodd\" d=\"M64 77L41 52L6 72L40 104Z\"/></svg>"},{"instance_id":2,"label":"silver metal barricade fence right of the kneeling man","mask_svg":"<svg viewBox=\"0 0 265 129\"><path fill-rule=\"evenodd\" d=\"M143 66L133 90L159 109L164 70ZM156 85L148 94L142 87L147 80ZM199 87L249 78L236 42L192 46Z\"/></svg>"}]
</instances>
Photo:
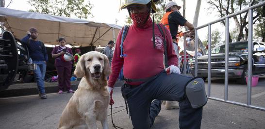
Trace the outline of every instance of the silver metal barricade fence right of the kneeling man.
<instances>
[{"instance_id":1,"label":"silver metal barricade fence right of the kneeling man","mask_svg":"<svg viewBox=\"0 0 265 129\"><path fill-rule=\"evenodd\" d=\"M252 60L251 60L251 58L252 58L252 52L253 52L252 49L248 49L247 103L241 103L241 102L228 100L229 18L248 12L248 48L252 48L252 46L253 46L253 38L252 38L253 37L253 9L256 9L256 8L259 8L262 6L265 6L265 1L262 1L258 4L255 4L251 7L246 8L244 10L241 10L241 11L233 13L233 14L229 14L229 15L224 16L218 20L215 20L213 22L210 22L208 24L205 24L205 25L202 25L202 26L195 28L195 76L198 76L198 58L197 58L198 57L197 56L198 29L208 27L208 45L211 46L211 25L225 20L225 89L224 89L225 92L224 92L224 99L211 97L211 65L208 65L208 92L207 92L207 96L209 99L265 111L265 107L259 107L259 106L251 105L251 83L252 83L252 77L251 77L252 76ZM183 41L185 41L185 34L191 32L191 31L192 30L189 30L189 31L186 31L183 33L184 34L184 36L183 36L184 40ZM184 46L184 54L183 55L186 55L186 43L183 43L183 46ZM188 67L187 61L186 61L187 60L186 56L183 57L183 60L184 61L183 61L183 65L182 65L182 67L183 67L182 72L183 72L183 74L186 74L187 73L187 67ZM208 48L208 64L211 64L211 47Z\"/></svg>"}]
</instances>

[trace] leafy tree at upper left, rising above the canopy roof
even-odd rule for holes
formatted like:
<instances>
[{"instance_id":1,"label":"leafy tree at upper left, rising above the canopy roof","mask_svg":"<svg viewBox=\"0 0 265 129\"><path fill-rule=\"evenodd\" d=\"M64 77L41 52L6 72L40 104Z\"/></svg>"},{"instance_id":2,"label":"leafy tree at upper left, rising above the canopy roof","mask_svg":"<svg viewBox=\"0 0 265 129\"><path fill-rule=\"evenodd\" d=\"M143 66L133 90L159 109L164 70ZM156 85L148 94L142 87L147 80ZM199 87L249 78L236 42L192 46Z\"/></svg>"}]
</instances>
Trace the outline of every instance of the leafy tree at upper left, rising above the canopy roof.
<instances>
[{"instance_id":1,"label":"leafy tree at upper left, rising above the canopy roof","mask_svg":"<svg viewBox=\"0 0 265 129\"><path fill-rule=\"evenodd\" d=\"M59 16L76 16L78 18L93 17L90 10L93 5L84 0L29 0L28 3L34 9L30 12L41 14L59 15Z\"/></svg>"}]
</instances>

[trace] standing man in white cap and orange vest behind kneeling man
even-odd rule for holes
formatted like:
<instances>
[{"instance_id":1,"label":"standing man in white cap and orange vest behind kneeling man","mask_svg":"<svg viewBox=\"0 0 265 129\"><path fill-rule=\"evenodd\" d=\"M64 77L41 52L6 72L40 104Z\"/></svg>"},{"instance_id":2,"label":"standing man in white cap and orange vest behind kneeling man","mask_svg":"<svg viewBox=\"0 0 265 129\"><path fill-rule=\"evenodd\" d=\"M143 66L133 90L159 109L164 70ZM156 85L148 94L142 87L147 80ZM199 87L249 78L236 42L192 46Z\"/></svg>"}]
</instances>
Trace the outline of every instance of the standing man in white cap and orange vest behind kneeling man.
<instances>
[{"instance_id":1,"label":"standing man in white cap and orange vest behind kneeling man","mask_svg":"<svg viewBox=\"0 0 265 129\"><path fill-rule=\"evenodd\" d=\"M166 14L164 14L161 23L166 26L167 29L170 30L170 34L173 40L173 47L175 50L175 53L179 60L180 65L180 54L179 54L179 46L178 46L178 40L177 40L177 34L178 34L178 27L180 26L186 26L188 29L192 30L194 29L193 25L189 23L179 12L179 9L181 6L177 5L174 1L169 1L166 4L165 11ZM180 67L178 65L178 67ZM166 101L166 109L177 109L179 108L178 103L176 101Z\"/></svg>"}]
</instances>

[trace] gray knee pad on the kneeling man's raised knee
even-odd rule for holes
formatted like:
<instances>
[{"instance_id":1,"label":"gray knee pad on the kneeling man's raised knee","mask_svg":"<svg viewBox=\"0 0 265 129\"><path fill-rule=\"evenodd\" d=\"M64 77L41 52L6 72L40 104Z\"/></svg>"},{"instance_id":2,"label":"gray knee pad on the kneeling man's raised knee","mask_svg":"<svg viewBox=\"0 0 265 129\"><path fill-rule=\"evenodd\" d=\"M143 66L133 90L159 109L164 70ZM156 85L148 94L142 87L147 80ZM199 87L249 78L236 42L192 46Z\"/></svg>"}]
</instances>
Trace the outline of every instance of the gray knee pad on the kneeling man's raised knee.
<instances>
[{"instance_id":1,"label":"gray knee pad on the kneeling man's raised knee","mask_svg":"<svg viewBox=\"0 0 265 129\"><path fill-rule=\"evenodd\" d=\"M192 108L200 108L207 103L208 99L202 78L195 77L188 81L184 86L184 92Z\"/></svg>"}]
</instances>

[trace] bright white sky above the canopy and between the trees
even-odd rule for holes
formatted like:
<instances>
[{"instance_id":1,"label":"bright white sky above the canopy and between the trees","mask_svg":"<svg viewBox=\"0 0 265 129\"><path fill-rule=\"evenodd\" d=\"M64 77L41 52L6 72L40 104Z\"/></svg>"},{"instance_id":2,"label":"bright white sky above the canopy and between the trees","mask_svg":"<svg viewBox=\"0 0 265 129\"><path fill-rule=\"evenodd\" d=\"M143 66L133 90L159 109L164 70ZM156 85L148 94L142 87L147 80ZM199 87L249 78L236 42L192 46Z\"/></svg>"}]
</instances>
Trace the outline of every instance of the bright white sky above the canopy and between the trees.
<instances>
[{"instance_id":1,"label":"bright white sky above the canopy and between the trees","mask_svg":"<svg viewBox=\"0 0 265 129\"><path fill-rule=\"evenodd\" d=\"M28 0L12 0L8 8L28 11L29 9L32 9L32 7L27 1ZM125 20L126 16L128 15L128 11L127 10L119 11L120 0L89 0L89 1L94 5L91 10L94 17L86 20L101 22L101 23L117 24L119 26L126 25ZM177 2L178 5L180 6L183 5L182 0L175 0L175 1ZM209 11L207 10L209 4L207 4L206 1L207 0L201 0L198 26L207 24L211 21L218 19L215 13L212 14L209 13ZM5 7L9 4L9 2L10 0L5 0ZM197 0L186 0L186 19L190 23L193 23L193 17L196 9L196 2ZM182 9L180 11L182 13ZM219 23L213 25L212 30L219 28L219 26L220 26ZM199 37L202 40L206 39L207 31L208 31L207 28L198 30Z\"/></svg>"}]
</instances>

